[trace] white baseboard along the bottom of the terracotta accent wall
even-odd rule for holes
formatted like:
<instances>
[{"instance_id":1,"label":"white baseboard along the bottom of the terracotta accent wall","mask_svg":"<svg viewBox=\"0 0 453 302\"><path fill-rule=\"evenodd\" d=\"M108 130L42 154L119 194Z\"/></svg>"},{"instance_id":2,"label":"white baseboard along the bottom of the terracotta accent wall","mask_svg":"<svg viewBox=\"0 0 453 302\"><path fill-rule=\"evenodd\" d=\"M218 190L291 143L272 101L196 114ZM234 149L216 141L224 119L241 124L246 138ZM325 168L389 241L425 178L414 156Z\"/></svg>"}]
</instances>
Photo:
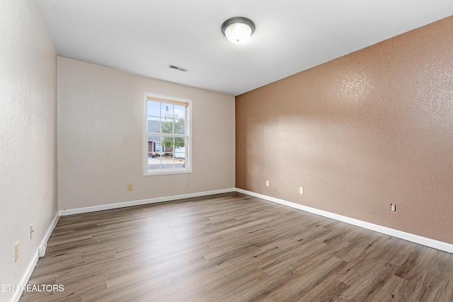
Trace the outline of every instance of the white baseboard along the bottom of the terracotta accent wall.
<instances>
[{"instance_id":1,"label":"white baseboard along the bottom of the terracotta accent wall","mask_svg":"<svg viewBox=\"0 0 453 302\"><path fill-rule=\"evenodd\" d=\"M367 228L368 230L371 230L371 231L384 233L384 234L389 235L389 236L393 236L393 237L396 237L396 238L401 238L401 239L404 239L404 240L408 240L408 241L411 241L413 243L418 243L418 244L421 244L421 245L428 246L430 248L437 248L437 250L443 250L445 252L453 253L453 245L450 244L450 243L445 243L445 242L442 242L442 241L438 241L438 240L434 240L434 239L430 239L430 238L414 235L414 234L411 234L411 233L398 231L398 230L395 230L393 228L387 228L385 226L379 226L377 224L369 223L369 222L366 222L366 221L361 221L361 220L353 219L353 218L350 218L350 217L347 217L347 216L334 214L334 213L331 213L331 212L328 212L328 211L322 211L322 210L319 210L319 209L306 207L306 206L303 206L302 204L295 204L294 202L287 202L286 200L282 200L282 199L278 199L278 198L275 198L275 197L266 196L266 195L263 195L263 194L258 194L258 193L255 193L255 192L250 192L250 191L247 191L247 190L242 190L242 189L239 189L239 188L236 188L236 192L247 194L247 195L250 195L250 196L253 196L253 197L258 197L260 199L265 199L265 200L268 200L270 202L275 202L277 204L283 204L283 205L285 205L287 207L292 207L294 209L307 211L309 213L313 213L313 214L316 214L316 215L319 215L319 216L324 216L324 217L327 217L327 218L331 218L331 219L335 219L335 220L342 221L342 222L345 222L345 223L349 223L349 224L352 224L353 226L360 226L361 228Z\"/></svg>"}]
</instances>

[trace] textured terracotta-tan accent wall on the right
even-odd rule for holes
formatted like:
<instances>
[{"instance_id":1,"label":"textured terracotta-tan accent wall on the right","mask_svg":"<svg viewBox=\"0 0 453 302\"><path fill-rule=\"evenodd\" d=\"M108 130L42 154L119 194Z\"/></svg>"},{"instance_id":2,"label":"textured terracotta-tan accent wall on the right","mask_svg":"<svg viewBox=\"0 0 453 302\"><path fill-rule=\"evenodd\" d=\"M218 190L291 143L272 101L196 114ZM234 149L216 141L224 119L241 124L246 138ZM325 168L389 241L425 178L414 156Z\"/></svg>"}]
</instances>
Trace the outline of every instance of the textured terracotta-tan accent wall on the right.
<instances>
[{"instance_id":1,"label":"textured terracotta-tan accent wall on the right","mask_svg":"<svg viewBox=\"0 0 453 302\"><path fill-rule=\"evenodd\" d=\"M449 17L237 96L236 187L453 243L452 37Z\"/></svg>"}]
</instances>

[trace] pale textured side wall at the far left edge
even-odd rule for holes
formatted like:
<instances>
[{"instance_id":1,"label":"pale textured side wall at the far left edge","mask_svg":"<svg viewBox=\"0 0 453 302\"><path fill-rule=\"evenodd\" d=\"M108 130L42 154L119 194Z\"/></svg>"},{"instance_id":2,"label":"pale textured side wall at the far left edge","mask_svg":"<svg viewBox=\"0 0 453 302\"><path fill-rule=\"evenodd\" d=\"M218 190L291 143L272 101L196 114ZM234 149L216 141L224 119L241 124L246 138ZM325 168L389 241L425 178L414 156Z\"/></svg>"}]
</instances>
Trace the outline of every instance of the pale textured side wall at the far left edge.
<instances>
[{"instance_id":1,"label":"pale textured side wall at the far left edge","mask_svg":"<svg viewBox=\"0 0 453 302\"><path fill-rule=\"evenodd\" d=\"M57 52L35 0L0 3L0 141L0 284L18 284L57 213Z\"/></svg>"}]
</instances>

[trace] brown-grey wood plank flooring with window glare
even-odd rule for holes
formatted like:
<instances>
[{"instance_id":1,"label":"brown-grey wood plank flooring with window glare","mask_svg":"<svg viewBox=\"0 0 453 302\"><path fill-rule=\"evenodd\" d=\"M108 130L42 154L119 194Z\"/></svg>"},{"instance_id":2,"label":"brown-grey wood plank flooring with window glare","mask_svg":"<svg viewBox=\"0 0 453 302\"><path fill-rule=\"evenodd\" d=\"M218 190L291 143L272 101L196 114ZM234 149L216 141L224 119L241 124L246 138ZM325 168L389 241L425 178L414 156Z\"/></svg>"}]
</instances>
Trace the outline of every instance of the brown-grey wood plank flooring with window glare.
<instances>
[{"instance_id":1,"label":"brown-grey wood plank flooring with window glare","mask_svg":"<svg viewBox=\"0 0 453 302\"><path fill-rule=\"evenodd\" d=\"M453 301L453 254L239 193L63 216L21 301Z\"/></svg>"}]
</instances>

